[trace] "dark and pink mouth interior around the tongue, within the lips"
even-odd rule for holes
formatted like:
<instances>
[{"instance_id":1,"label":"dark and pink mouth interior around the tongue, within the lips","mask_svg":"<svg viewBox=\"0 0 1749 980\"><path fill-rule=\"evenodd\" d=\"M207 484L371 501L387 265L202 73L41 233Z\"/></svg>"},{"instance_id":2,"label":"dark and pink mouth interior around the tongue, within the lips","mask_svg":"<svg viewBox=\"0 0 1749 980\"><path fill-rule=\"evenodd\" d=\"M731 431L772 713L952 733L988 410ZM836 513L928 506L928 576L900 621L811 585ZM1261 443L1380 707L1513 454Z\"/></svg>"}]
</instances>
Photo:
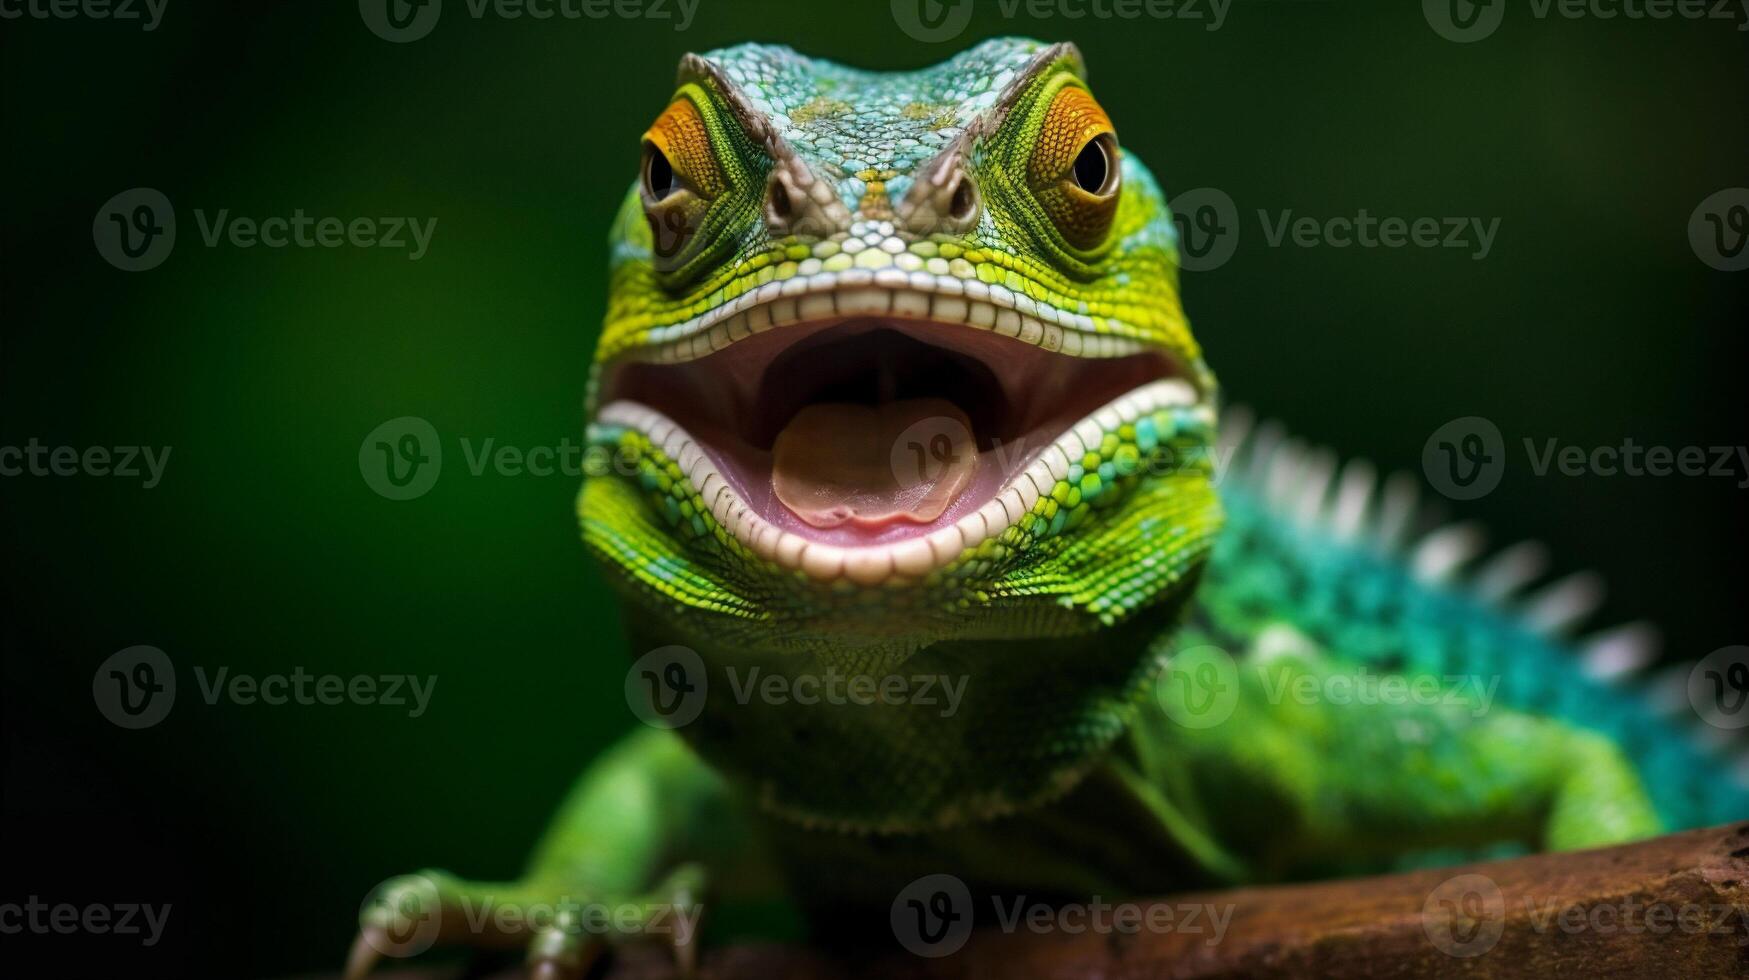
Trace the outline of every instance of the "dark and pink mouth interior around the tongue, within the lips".
<instances>
[{"instance_id":1,"label":"dark and pink mouth interior around the tongue, within the lips","mask_svg":"<svg viewBox=\"0 0 1749 980\"><path fill-rule=\"evenodd\" d=\"M840 301L836 310L857 306ZM1163 350L1128 345L1105 348L1107 357L1070 355L1028 341L1025 334L1006 336L1000 327L895 315L892 308L885 313L836 310L824 317L794 317L778 329L742 331L717 350L680 360L649 348L616 357L600 378L600 418L672 424L721 478L712 495L728 488L736 506L784 536L850 551L936 536L974 516L1016 478L1025 485L1021 471L1051 448L1053 439L1128 392L1172 380L1181 394L1168 396L1170 401L1200 401L1186 373ZM906 399L951 402L964 413L976 444L974 466L943 492L951 499L939 511L895 508L899 516L822 527L815 514L798 514L780 499L773 488L773 450L799 413L822 402L880 406ZM848 418L864 416L852 413ZM829 425L824 439L819 425L796 425L799 429L815 443L841 441ZM845 432L843 441L864 436ZM820 452L831 453L834 446ZM841 472L854 471L854 466L841 467ZM693 483L707 494L703 480ZM705 500L707 508L715 504L715 499Z\"/></svg>"}]
</instances>

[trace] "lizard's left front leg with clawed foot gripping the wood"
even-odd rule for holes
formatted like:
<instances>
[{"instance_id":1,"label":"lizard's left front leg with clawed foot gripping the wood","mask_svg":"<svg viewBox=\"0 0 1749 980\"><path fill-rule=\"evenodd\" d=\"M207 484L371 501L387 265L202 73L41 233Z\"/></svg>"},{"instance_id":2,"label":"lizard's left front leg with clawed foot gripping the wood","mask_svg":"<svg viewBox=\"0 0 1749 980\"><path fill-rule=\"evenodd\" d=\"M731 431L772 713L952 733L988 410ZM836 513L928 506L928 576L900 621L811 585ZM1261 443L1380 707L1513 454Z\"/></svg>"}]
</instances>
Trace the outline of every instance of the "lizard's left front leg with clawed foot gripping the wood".
<instances>
[{"instance_id":1,"label":"lizard's left front leg with clawed foot gripping the wood","mask_svg":"<svg viewBox=\"0 0 1749 980\"><path fill-rule=\"evenodd\" d=\"M698 859L721 870L714 858L733 854L757 847L722 780L672 732L637 732L584 772L519 880L420 872L385 882L360 914L346 978L439 943L525 945L532 976L575 978L607 945L645 938L672 943L689 971Z\"/></svg>"}]
</instances>

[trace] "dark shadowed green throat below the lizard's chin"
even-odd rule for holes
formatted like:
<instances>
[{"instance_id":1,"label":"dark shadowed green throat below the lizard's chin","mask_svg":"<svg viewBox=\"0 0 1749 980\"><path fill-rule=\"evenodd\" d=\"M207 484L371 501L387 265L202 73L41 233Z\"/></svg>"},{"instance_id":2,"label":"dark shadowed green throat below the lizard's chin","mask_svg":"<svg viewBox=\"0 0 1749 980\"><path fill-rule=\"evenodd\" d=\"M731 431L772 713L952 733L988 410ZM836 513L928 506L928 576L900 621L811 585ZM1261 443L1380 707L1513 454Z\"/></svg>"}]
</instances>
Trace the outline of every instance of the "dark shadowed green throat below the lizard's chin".
<instances>
[{"instance_id":1,"label":"dark shadowed green throat below the lizard's chin","mask_svg":"<svg viewBox=\"0 0 1749 980\"><path fill-rule=\"evenodd\" d=\"M1116 625L915 651L749 651L633 614L635 649L682 644L707 672L680 735L766 814L817 830L920 833L1049 803L1097 766L1167 654L1195 574Z\"/></svg>"}]
</instances>

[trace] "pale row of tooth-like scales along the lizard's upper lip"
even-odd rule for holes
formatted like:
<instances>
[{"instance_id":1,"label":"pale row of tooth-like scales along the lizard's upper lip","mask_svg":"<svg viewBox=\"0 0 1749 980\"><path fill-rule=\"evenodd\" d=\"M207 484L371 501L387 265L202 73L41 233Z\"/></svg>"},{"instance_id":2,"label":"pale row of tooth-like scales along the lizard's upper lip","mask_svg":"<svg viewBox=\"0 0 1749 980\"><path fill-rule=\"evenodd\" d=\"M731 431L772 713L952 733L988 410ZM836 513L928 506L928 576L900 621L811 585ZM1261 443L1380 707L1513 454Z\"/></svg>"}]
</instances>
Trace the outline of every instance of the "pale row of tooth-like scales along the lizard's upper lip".
<instances>
[{"instance_id":1,"label":"pale row of tooth-like scales along the lizard's upper lip","mask_svg":"<svg viewBox=\"0 0 1749 980\"><path fill-rule=\"evenodd\" d=\"M631 357L658 364L693 360L771 327L826 317L964 324L1074 357L1123 357L1142 350L1140 341L1095 332L1093 317L1086 313L1067 313L1006 285L887 268L768 282L708 313L652 329L647 346Z\"/></svg>"}]
</instances>

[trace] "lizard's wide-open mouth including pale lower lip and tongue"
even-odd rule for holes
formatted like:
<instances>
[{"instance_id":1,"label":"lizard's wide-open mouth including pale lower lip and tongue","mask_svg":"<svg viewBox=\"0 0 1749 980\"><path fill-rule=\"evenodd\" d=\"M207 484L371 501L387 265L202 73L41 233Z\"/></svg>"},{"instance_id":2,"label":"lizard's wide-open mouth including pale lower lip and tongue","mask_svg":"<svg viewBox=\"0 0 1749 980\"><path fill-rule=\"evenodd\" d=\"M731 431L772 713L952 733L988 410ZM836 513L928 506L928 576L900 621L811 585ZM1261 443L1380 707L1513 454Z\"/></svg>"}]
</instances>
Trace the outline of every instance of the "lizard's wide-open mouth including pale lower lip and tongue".
<instances>
[{"instance_id":1,"label":"lizard's wide-open mouth including pale lower lip and tongue","mask_svg":"<svg viewBox=\"0 0 1749 980\"><path fill-rule=\"evenodd\" d=\"M1086 439L1198 399L1165 352L1133 341L1079 336L1074 355L1067 331L1013 310L985 306L985 324L964 301L951 320L927 304L895 315L908 294L864 292L833 296L829 315L759 306L715 340L626 354L600 380L598 420L672 443L703 504L756 551L880 581L1000 534Z\"/></svg>"}]
</instances>

